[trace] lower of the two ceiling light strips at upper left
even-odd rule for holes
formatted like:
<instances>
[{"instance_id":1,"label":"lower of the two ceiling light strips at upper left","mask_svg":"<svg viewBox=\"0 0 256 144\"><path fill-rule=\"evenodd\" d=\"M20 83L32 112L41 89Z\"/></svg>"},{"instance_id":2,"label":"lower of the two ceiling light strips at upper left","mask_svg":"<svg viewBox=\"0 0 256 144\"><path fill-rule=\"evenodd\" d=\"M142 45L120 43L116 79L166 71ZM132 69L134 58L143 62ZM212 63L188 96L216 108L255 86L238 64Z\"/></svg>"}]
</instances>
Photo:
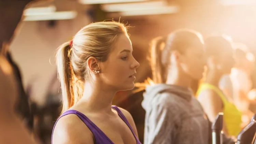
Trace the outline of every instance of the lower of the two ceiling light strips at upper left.
<instances>
[{"instance_id":1,"label":"lower of the two ceiling light strips at upper left","mask_svg":"<svg viewBox=\"0 0 256 144\"><path fill-rule=\"evenodd\" d=\"M77 16L76 11L54 12L44 15L30 15L24 18L24 21L40 21L40 20L65 20L74 19Z\"/></svg>"}]
</instances>

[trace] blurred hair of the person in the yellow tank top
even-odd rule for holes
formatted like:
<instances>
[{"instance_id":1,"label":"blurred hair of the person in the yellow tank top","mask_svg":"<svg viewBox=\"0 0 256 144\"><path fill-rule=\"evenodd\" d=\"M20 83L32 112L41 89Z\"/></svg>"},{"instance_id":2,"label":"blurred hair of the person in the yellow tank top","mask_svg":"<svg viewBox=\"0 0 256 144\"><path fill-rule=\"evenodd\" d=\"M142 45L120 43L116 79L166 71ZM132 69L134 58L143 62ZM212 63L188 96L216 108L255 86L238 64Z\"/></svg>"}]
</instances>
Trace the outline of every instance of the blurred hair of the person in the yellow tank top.
<instances>
[{"instance_id":1,"label":"blurred hair of the person in the yellow tank top","mask_svg":"<svg viewBox=\"0 0 256 144\"><path fill-rule=\"evenodd\" d=\"M209 56L218 56L223 52L223 49L232 49L231 40L225 35L221 36L211 36L204 41L205 53Z\"/></svg>"}]
</instances>

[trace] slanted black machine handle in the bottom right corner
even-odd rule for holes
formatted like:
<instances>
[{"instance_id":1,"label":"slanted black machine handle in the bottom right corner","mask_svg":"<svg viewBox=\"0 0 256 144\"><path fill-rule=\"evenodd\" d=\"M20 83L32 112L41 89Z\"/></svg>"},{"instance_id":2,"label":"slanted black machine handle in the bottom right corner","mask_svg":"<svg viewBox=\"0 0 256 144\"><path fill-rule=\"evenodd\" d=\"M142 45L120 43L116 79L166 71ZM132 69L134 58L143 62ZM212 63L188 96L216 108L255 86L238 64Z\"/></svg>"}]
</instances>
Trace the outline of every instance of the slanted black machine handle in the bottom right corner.
<instances>
[{"instance_id":1,"label":"slanted black machine handle in the bottom right corner","mask_svg":"<svg viewBox=\"0 0 256 144\"><path fill-rule=\"evenodd\" d=\"M237 136L237 144L256 144L256 114Z\"/></svg>"}]
</instances>

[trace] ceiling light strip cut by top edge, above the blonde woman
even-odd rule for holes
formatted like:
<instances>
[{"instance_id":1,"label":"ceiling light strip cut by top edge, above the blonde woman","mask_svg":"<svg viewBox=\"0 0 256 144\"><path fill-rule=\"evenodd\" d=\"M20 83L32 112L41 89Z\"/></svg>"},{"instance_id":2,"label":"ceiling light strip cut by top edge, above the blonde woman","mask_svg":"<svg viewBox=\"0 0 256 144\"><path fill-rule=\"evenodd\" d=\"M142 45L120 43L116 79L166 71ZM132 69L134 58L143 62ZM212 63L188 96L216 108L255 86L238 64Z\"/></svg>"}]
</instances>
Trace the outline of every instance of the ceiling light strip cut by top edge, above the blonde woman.
<instances>
[{"instance_id":1,"label":"ceiling light strip cut by top edge, above the blonde woman","mask_svg":"<svg viewBox=\"0 0 256 144\"><path fill-rule=\"evenodd\" d=\"M82 4L103 4L103 3L126 3L126 2L141 2L147 0L79 0Z\"/></svg>"}]
</instances>

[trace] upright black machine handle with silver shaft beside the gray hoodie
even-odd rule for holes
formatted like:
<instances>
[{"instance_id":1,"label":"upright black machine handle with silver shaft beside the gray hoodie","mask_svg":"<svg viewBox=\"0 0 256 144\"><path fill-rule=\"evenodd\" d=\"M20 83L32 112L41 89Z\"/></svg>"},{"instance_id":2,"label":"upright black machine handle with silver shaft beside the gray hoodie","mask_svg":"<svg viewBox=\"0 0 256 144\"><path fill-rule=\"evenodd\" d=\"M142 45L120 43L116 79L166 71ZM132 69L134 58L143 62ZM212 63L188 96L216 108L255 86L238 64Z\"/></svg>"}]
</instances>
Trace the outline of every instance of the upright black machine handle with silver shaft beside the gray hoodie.
<instances>
[{"instance_id":1,"label":"upright black machine handle with silver shaft beside the gray hoodie","mask_svg":"<svg viewBox=\"0 0 256 144\"><path fill-rule=\"evenodd\" d=\"M223 113L218 113L214 122L212 123L212 144L223 143Z\"/></svg>"}]
</instances>

